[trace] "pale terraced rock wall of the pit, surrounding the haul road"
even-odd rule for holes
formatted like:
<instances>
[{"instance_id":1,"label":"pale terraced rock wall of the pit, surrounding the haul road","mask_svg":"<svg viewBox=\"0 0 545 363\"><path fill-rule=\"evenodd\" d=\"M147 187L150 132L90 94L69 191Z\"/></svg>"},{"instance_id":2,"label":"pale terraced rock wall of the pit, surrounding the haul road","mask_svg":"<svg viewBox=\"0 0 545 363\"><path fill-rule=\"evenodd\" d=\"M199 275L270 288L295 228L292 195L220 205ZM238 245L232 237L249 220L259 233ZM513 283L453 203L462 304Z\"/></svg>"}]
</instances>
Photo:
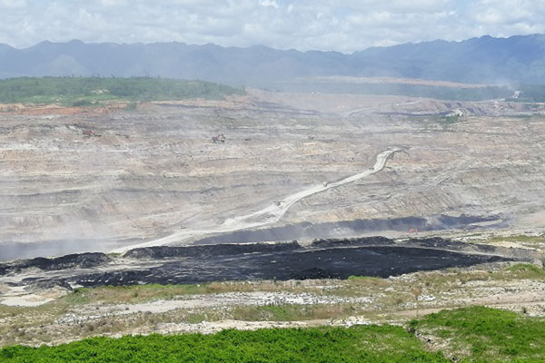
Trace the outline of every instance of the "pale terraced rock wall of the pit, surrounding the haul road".
<instances>
[{"instance_id":1,"label":"pale terraced rock wall of the pit, surrounding the haul road","mask_svg":"<svg viewBox=\"0 0 545 363\"><path fill-rule=\"evenodd\" d=\"M458 123L434 116L454 109L464 112ZM441 215L468 216L453 228L492 217L543 227L541 113L539 104L263 92L135 112L0 113L0 260L108 251L182 229L202 233L180 244L203 240L228 219L368 170L392 146L403 152L381 172L298 201L267 227L328 225L322 237L342 237L354 230L335 223L415 219L394 230L406 234ZM225 143L211 141L219 133ZM305 237L294 234L282 239Z\"/></svg>"}]
</instances>

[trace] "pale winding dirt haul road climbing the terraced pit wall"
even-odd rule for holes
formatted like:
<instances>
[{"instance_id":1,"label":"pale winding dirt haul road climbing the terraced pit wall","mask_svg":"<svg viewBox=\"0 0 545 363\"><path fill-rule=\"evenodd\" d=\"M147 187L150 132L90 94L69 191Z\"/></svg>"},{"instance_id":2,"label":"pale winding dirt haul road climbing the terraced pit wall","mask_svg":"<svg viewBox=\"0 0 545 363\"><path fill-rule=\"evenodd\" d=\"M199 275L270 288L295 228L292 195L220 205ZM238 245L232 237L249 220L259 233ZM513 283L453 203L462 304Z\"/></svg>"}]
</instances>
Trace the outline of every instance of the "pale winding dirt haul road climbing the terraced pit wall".
<instances>
[{"instance_id":1,"label":"pale winding dirt haul road climbing the terraced pit wall","mask_svg":"<svg viewBox=\"0 0 545 363\"><path fill-rule=\"evenodd\" d=\"M211 233L225 233L233 231L247 230L256 227L262 227L267 224L272 224L278 222L282 219L282 216L293 206L293 204L301 201L304 198L310 197L311 195L321 193L323 191L328 191L333 188L338 188L342 185L356 182L362 178L368 177L377 172L381 172L386 166L386 162L391 158L391 156L396 153L401 152L399 148L391 148L385 152L381 152L377 155L376 162L372 169L365 172L359 172L355 175L352 175L348 178L342 179L339 182L332 183L323 183L321 185L313 186L310 189L305 191L299 191L295 194L289 195L284 198L282 201L277 201L272 203L270 206L264 208L261 211L255 211L251 214L243 215L240 217L230 218L223 222L222 225L219 225L215 228L209 230L183 230L177 231L171 234L170 236L163 237L158 240L150 240L148 242L139 243L131 246L126 246L121 249L113 250L114 253L124 253L127 250L132 250L135 248L142 247L152 247L152 246L162 246L172 242L179 242L182 240L188 240L198 236L204 236Z\"/></svg>"}]
</instances>

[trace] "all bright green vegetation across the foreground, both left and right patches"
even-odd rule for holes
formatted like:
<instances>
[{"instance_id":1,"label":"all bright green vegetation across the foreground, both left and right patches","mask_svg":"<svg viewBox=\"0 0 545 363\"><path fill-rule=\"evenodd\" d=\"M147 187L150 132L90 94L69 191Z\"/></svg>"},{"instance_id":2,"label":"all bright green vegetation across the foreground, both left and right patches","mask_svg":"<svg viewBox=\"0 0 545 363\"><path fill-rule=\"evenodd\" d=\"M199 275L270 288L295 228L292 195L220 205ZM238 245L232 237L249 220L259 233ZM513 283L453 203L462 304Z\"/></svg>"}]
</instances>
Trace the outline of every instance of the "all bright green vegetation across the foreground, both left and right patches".
<instances>
[{"instance_id":1,"label":"all bright green vegetation across the foreground, both left and right patches","mask_svg":"<svg viewBox=\"0 0 545 363\"><path fill-rule=\"evenodd\" d=\"M427 340L426 345L417 336ZM431 344L430 344L431 342ZM543 362L545 321L473 307L393 326L224 330L214 335L89 338L57 347L10 347L12 362Z\"/></svg>"}]
</instances>

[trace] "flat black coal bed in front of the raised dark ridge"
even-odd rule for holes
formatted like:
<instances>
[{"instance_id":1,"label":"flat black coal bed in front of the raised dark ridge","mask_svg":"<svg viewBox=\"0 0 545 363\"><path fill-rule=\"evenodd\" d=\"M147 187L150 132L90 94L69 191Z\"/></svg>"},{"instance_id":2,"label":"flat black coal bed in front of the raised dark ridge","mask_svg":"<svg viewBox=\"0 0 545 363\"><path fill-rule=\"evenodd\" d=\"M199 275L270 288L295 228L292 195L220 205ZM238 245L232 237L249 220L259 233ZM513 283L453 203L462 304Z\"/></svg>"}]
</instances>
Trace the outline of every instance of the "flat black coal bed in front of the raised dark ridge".
<instances>
[{"instance_id":1,"label":"flat black coal bed in front of the raised dark ridge","mask_svg":"<svg viewBox=\"0 0 545 363\"><path fill-rule=\"evenodd\" d=\"M92 272L67 280L84 287L97 287L221 280L346 279L351 275L387 278L418 270L441 270L509 260L512 259L411 246L332 247L257 253L238 259L214 256L169 260L150 269ZM45 280L38 282L45 283Z\"/></svg>"}]
</instances>

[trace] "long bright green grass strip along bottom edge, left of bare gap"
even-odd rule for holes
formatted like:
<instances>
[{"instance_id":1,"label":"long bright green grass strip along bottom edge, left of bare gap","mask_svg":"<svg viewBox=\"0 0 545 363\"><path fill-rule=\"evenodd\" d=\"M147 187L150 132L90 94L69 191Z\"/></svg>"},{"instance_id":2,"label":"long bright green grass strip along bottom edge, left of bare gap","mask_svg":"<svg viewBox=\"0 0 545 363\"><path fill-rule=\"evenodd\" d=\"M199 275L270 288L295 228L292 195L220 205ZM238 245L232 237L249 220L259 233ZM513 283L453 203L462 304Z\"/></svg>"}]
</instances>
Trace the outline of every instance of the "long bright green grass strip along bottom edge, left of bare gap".
<instances>
[{"instance_id":1,"label":"long bright green grass strip along bottom edge, left of bare gap","mask_svg":"<svg viewBox=\"0 0 545 363\"><path fill-rule=\"evenodd\" d=\"M12 347L15 362L446 362L401 327L224 330L214 335L89 338L58 347Z\"/></svg>"}]
</instances>

